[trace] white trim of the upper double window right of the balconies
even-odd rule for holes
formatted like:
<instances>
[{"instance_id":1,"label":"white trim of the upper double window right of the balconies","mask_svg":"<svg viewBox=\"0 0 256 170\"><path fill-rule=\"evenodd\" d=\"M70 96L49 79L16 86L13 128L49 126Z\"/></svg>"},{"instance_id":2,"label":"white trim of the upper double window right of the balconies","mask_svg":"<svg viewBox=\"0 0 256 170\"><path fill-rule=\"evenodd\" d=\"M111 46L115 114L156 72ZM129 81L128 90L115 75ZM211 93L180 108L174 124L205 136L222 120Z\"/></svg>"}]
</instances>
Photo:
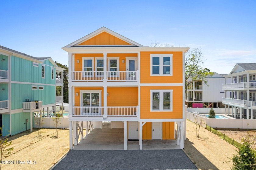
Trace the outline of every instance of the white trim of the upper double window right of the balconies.
<instances>
[{"instance_id":1,"label":"white trim of the upper double window right of the balconies","mask_svg":"<svg viewBox=\"0 0 256 170\"><path fill-rule=\"evenodd\" d=\"M159 57L159 75L152 74L153 57ZM163 57L170 57L170 74L163 74ZM172 76L172 68L172 54L150 54L150 76Z\"/></svg>"}]
</instances>

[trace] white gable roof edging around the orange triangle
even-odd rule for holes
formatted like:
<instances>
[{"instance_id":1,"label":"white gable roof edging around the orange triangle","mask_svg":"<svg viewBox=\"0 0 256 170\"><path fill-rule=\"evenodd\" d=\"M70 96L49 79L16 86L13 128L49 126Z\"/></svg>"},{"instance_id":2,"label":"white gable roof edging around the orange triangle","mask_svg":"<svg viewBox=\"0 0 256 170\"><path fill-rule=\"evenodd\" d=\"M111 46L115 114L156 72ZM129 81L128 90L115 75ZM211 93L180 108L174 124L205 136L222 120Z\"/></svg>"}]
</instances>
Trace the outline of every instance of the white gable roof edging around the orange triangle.
<instances>
[{"instance_id":1,"label":"white gable roof edging around the orange triangle","mask_svg":"<svg viewBox=\"0 0 256 170\"><path fill-rule=\"evenodd\" d=\"M67 45L65 47L78 47L78 46L86 47L84 45L79 45L79 44L81 44L81 43L83 43L83 42L93 38L94 36L97 36L97 35L103 33L103 32L106 32L106 33L108 33L108 34L110 34L112 36L115 36L115 37L119 38L120 40L123 40L126 43L130 44L130 45L126 45L127 47L143 47L143 45L141 45L139 43L136 43L135 41L130 40L130 39L126 38L125 36L122 36L119 33L116 33L116 32L114 32L114 31L112 31L112 30L110 30L110 29L108 29L108 28L106 28L104 26L101 27L100 29L97 29L96 31L94 31L94 32L92 32L92 33L90 33L90 34L80 38L79 40L76 40L73 43L70 43L69 45ZM101 45L99 45L99 46L101 47ZM109 46L107 46L107 47L109 47Z\"/></svg>"}]
</instances>

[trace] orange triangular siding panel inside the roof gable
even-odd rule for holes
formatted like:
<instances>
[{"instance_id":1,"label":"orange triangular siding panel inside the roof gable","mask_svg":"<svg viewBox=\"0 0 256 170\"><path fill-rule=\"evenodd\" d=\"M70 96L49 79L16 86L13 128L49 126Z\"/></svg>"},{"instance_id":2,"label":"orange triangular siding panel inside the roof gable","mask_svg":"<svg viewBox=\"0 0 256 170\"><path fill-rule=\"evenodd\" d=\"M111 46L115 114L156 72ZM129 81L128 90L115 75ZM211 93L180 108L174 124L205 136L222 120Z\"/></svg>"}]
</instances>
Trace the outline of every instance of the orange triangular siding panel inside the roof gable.
<instances>
[{"instance_id":1,"label":"orange triangular siding panel inside the roof gable","mask_svg":"<svg viewBox=\"0 0 256 170\"><path fill-rule=\"evenodd\" d=\"M79 45L131 45L109 33L100 33Z\"/></svg>"}]
</instances>

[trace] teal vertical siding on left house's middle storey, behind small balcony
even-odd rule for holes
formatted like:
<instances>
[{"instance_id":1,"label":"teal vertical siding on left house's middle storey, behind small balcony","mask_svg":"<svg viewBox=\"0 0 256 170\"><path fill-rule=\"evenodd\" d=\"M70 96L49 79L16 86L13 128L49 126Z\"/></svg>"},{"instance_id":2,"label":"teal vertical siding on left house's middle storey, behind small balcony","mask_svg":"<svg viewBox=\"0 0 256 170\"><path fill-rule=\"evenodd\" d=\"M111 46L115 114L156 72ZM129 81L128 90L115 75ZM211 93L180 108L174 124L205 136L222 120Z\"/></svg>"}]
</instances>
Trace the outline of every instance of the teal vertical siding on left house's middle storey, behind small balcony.
<instances>
[{"instance_id":1,"label":"teal vertical siding on left house's middle storey, behind small balcony","mask_svg":"<svg viewBox=\"0 0 256 170\"><path fill-rule=\"evenodd\" d=\"M43 101L43 105L55 103L55 86L43 85L44 90L32 90L33 84L18 84L11 83L12 87L12 106L11 109L22 109L22 102L26 99L30 101L40 100Z\"/></svg>"}]
</instances>

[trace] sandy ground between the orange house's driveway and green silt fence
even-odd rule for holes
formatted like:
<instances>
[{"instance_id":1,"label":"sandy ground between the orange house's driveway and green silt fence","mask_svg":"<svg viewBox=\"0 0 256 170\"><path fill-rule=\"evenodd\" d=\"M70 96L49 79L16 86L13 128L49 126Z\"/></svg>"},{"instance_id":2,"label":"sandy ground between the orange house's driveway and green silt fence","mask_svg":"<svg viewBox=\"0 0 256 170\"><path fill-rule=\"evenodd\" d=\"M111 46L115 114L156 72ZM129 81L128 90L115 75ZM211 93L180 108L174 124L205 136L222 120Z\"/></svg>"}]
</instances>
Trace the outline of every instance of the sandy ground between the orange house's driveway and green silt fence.
<instances>
[{"instance_id":1,"label":"sandy ground between the orange house's driveway and green silt fence","mask_svg":"<svg viewBox=\"0 0 256 170\"><path fill-rule=\"evenodd\" d=\"M187 120L185 151L201 169L231 169L232 163L227 157L236 154L236 147L217 135L200 127L199 138L196 137L196 124ZM225 163L222 163L225 162Z\"/></svg>"}]
</instances>

